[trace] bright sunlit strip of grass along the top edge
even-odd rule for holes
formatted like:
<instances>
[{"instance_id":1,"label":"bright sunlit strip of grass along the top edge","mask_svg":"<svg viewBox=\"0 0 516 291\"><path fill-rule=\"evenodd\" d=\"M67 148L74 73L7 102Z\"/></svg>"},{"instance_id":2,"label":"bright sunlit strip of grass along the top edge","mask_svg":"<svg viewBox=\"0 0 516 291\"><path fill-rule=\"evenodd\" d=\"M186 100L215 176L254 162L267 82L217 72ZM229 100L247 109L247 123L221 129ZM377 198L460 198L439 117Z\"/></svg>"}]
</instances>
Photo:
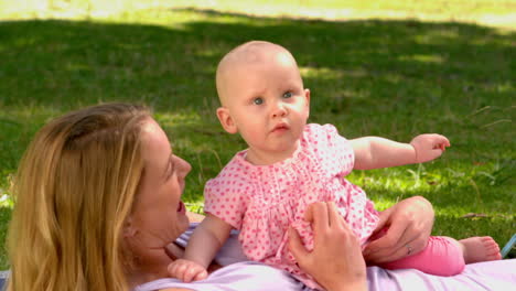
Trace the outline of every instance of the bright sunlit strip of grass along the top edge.
<instances>
[{"instance_id":1,"label":"bright sunlit strip of grass along the top edge","mask_svg":"<svg viewBox=\"0 0 516 291\"><path fill-rule=\"evenodd\" d=\"M103 19L150 24L162 23L166 17L160 11L170 8L326 20L458 21L516 30L515 0L3 0L0 1L0 17ZM139 12L142 10L147 10L146 13Z\"/></svg>"}]
</instances>

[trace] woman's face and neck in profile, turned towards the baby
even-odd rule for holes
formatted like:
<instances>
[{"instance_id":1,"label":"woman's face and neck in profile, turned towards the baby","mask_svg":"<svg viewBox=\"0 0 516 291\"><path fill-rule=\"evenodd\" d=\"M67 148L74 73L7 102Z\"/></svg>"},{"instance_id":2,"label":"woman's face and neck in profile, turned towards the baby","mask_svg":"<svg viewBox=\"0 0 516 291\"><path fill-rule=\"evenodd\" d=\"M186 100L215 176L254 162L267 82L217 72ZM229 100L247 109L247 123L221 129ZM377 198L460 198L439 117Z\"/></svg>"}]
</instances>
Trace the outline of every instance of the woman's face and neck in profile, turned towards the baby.
<instances>
[{"instance_id":1,"label":"woman's face and neck in profile, turned towards the baby","mask_svg":"<svg viewBox=\"0 0 516 291\"><path fill-rule=\"evenodd\" d=\"M144 121L141 138L144 170L125 237L135 255L146 260L147 252L163 251L189 227L181 195L191 166L172 153L166 134L153 119Z\"/></svg>"}]
</instances>

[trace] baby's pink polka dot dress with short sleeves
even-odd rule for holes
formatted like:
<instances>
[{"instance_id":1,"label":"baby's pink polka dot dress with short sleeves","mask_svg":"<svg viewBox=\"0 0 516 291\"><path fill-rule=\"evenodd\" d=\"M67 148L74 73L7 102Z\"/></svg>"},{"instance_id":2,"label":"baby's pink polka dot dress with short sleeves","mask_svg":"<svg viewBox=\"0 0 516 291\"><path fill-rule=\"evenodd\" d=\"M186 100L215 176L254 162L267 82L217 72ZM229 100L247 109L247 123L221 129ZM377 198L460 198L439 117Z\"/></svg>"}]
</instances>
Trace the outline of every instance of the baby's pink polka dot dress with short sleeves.
<instances>
[{"instance_id":1,"label":"baby's pink polka dot dress with short sleeves","mask_svg":"<svg viewBox=\"0 0 516 291\"><path fill-rule=\"evenodd\" d=\"M320 288L301 271L288 250L292 225L307 248L313 234L303 220L307 206L333 201L364 244L378 223L378 213L365 192L344 179L353 170L350 142L331 125L307 125L292 158L270 165L254 165L238 152L206 183L205 212L240 230L246 256L287 270L311 288Z\"/></svg>"}]
</instances>

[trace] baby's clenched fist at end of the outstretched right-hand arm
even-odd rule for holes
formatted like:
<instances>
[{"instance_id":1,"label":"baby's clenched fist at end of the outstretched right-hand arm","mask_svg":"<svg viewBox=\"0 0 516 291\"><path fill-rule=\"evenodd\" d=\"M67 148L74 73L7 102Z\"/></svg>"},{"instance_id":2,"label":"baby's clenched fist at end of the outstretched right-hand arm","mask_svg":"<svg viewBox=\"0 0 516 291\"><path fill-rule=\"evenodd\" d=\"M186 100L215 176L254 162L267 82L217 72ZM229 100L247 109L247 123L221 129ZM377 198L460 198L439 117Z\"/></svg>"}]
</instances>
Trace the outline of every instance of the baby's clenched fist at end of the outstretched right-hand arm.
<instances>
[{"instance_id":1,"label":"baby's clenched fist at end of the outstretched right-hand arm","mask_svg":"<svg viewBox=\"0 0 516 291\"><path fill-rule=\"evenodd\" d=\"M423 163L441 157L442 152L450 147L450 141L441 134L420 134L410 141L416 151L416 162Z\"/></svg>"}]
</instances>

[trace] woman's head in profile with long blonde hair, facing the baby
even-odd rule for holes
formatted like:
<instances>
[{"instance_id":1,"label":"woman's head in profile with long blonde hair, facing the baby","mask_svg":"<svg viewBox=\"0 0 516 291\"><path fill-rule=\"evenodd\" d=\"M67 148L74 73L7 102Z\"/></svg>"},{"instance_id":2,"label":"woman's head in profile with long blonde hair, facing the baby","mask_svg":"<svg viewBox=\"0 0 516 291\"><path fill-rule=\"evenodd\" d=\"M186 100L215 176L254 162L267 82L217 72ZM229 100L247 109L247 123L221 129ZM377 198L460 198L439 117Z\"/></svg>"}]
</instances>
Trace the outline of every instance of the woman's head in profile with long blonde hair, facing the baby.
<instances>
[{"instance_id":1,"label":"woman's head in profile with long blonde hair, facing the baby","mask_svg":"<svg viewBox=\"0 0 516 291\"><path fill-rule=\"evenodd\" d=\"M165 247L189 227L190 169L142 107L101 105L51 121L15 179L8 290L129 290L168 277Z\"/></svg>"}]
</instances>

